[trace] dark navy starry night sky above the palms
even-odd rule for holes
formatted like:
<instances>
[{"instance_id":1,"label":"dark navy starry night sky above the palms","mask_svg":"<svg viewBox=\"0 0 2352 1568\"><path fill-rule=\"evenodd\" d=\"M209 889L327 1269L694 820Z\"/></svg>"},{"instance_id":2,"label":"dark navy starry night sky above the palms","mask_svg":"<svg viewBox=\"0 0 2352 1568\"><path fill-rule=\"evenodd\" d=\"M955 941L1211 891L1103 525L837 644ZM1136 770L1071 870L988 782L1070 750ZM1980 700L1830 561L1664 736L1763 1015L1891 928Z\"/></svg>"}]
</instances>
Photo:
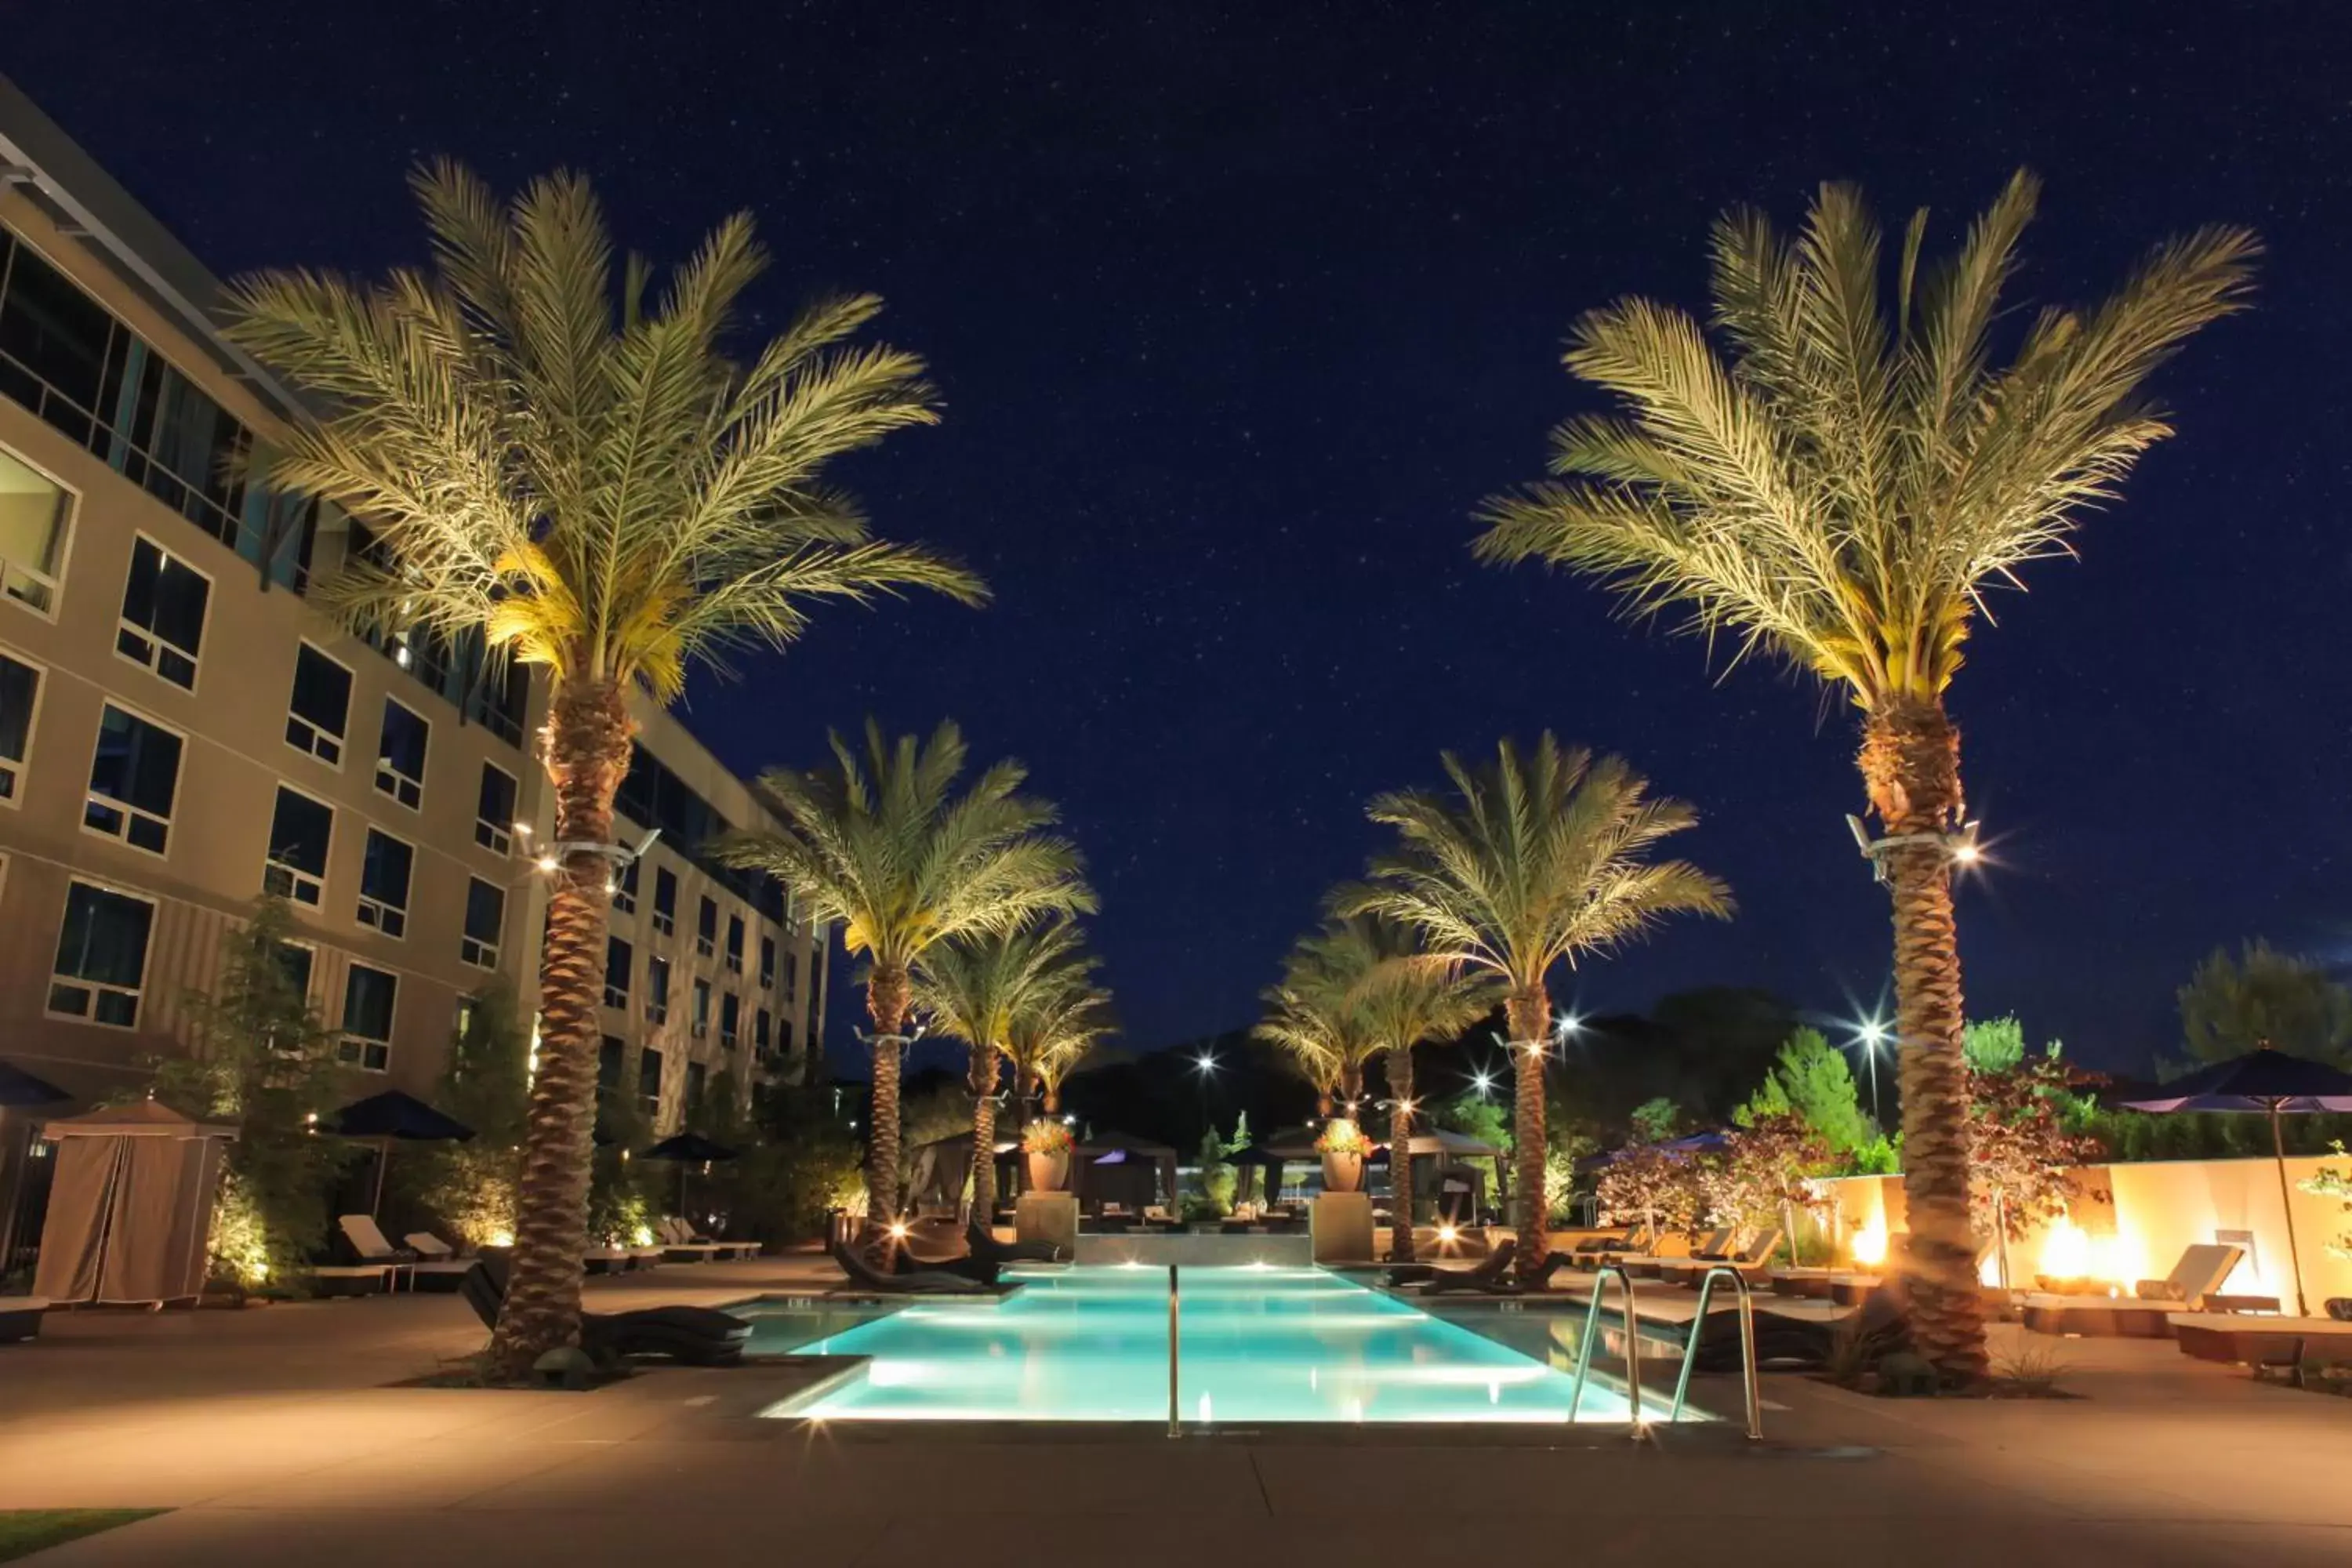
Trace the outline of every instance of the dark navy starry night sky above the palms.
<instances>
[{"instance_id":1,"label":"dark navy starry night sky above the palms","mask_svg":"<svg viewBox=\"0 0 2352 1568\"><path fill-rule=\"evenodd\" d=\"M2018 301L2105 294L2166 233L2256 226L2256 315L2157 390L2180 437L2006 595L1952 691L1999 858L1971 1013L2093 1065L2178 1041L2218 943L2352 959L2352 49L2333 5L0 5L0 71L214 270L381 270L402 172L586 169L623 244L736 207L774 327L875 289L946 425L842 470L1000 602L830 611L696 682L729 764L953 715L1063 802L1129 1039L1249 1023L1376 790L1552 726L1705 820L1731 924L1569 983L1585 1011L1882 994L1846 712L1472 564L1470 508L1595 407L1583 308L1703 306L1710 219L1858 179L1938 247L2044 174ZM374 16L369 21L367 16ZM395 26L390 19L400 19ZM837 976L847 978L847 976ZM851 1020L837 985L837 1053Z\"/></svg>"}]
</instances>

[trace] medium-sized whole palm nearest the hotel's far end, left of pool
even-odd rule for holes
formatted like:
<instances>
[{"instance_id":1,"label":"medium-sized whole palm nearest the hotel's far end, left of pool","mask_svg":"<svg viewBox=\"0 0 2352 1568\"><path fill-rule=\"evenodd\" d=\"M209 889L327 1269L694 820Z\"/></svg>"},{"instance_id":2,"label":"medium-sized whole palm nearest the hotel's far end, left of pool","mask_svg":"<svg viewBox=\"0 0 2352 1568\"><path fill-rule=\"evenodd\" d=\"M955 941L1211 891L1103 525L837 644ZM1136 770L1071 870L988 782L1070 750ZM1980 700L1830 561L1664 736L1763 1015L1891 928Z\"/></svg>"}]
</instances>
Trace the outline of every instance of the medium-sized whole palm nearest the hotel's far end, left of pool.
<instances>
[{"instance_id":1,"label":"medium-sized whole palm nearest the hotel's far end, left of pool","mask_svg":"<svg viewBox=\"0 0 2352 1568\"><path fill-rule=\"evenodd\" d=\"M1018 931L1047 914L1094 910L1077 849L1047 835L1056 811L1021 795L1028 769L997 762L955 795L964 736L941 724L929 741L866 722L866 755L833 736L833 766L769 769L760 792L783 820L720 844L729 865L762 870L840 922L842 947L863 952L873 1034L873 1138L866 1215L898 1218L898 1053L915 1001L915 966L941 943Z\"/></svg>"}]
</instances>

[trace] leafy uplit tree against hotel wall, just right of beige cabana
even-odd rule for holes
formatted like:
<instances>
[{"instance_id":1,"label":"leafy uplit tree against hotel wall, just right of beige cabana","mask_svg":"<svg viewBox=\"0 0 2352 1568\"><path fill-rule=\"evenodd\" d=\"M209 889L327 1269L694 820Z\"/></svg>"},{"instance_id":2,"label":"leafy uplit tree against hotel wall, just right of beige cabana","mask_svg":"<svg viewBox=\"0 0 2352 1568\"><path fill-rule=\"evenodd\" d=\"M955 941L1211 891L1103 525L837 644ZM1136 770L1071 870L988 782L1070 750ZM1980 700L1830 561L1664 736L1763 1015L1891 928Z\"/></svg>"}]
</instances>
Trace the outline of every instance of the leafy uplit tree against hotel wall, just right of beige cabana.
<instances>
[{"instance_id":1,"label":"leafy uplit tree against hotel wall, just right of beige cabana","mask_svg":"<svg viewBox=\"0 0 2352 1568\"><path fill-rule=\"evenodd\" d=\"M256 900L221 943L221 978L186 997L188 1056L148 1063L158 1100L238 1128L212 1237L212 1267L238 1286L301 1279L327 1246L334 1187L360 1152L313 1126L348 1098L350 1072L287 961L296 931L285 900Z\"/></svg>"}]
</instances>

